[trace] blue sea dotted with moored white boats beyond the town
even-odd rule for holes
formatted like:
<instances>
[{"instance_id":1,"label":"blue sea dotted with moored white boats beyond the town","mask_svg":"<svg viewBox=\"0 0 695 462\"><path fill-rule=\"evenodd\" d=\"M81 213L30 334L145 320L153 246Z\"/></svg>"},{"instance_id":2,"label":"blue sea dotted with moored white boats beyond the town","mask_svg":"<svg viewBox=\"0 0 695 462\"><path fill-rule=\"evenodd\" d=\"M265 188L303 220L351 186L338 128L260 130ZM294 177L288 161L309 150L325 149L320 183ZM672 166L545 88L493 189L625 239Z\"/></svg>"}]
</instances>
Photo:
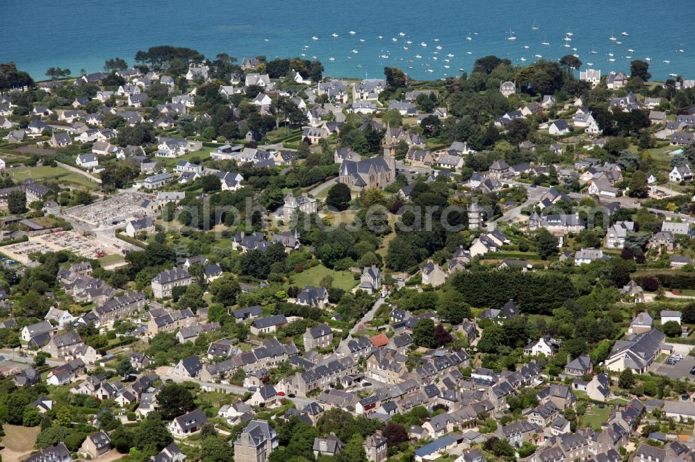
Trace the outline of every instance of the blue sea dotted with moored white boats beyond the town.
<instances>
[{"instance_id":1,"label":"blue sea dotted with moored white boats beyond the town","mask_svg":"<svg viewBox=\"0 0 695 462\"><path fill-rule=\"evenodd\" d=\"M603 74L639 59L652 80L695 78L695 0L0 0L0 17L0 62L35 80L49 67L133 65L156 45L316 58L338 78L380 78L387 66L445 78L485 55L530 65L569 54Z\"/></svg>"}]
</instances>

